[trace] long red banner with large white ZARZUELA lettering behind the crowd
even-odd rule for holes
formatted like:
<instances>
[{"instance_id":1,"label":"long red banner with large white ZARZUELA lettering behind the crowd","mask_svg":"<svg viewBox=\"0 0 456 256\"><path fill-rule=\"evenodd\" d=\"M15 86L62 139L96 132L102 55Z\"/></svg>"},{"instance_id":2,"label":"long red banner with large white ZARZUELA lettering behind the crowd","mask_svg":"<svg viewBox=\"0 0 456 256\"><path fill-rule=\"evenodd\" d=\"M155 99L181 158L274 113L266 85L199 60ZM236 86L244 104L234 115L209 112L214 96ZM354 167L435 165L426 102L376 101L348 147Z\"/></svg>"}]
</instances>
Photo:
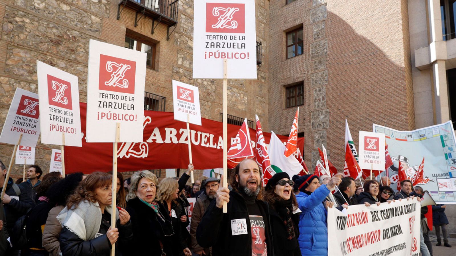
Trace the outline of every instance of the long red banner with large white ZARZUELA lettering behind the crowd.
<instances>
[{"instance_id":1,"label":"long red banner with large white ZARZUELA lettering behind the crowd","mask_svg":"<svg viewBox=\"0 0 456 256\"><path fill-rule=\"evenodd\" d=\"M65 172L92 173L111 171L113 165L112 143L87 143L86 103L81 107L82 147L65 146ZM137 171L141 169L187 169L188 137L187 124L174 120L172 112L144 111L144 132L141 143L119 143L118 171ZM190 124L192 157L195 169L212 169L223 166L223 127L221 122L201 118L202 125ZM102 129L102 128L100 128ZM250 139L255 148L255 130L249 128ZM239 126L228 124L228 145L236 137ZM271 133L263 133L269 146ZM282 142L288 137L277 135ZM304 147L304 138L298 138L298 146Z\"/></svg>"}]
</instances>

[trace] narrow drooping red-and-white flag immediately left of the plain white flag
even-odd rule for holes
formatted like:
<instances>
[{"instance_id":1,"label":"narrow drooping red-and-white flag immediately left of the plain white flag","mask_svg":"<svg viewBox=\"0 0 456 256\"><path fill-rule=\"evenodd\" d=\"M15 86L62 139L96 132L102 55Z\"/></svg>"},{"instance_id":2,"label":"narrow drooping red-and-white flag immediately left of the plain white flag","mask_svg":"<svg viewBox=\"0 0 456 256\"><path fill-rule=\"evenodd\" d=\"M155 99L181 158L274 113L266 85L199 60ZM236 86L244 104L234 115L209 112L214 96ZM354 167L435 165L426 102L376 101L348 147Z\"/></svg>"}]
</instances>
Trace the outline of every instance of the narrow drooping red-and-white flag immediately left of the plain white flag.
<instances>
[{"instance_id":1,"label":"narrow drooping red-and-white flag immediately left of the plain white flag","mask_svg":"<svg viewBox=\"0 0 456 256\"><path fill-rule=\"evenodd\" d=\"M268 180L272 178L275 171L271 168L271 162L269 161L269 154L266 150L266 143L264 142L263 129L261 129L261 123L259 118L255 115L256 119L256 146L255 146L255 161L261 168L263 176L261 178L261 184L266 186Z\"/></svg>"}]
</instances>

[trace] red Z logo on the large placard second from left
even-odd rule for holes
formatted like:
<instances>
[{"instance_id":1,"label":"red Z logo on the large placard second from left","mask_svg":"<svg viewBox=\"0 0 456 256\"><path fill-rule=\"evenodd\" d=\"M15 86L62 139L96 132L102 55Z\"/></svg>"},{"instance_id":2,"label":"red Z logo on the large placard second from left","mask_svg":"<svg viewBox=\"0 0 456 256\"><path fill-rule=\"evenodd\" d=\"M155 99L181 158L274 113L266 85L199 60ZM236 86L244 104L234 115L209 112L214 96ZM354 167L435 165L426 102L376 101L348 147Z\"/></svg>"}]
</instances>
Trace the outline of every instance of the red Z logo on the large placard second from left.
<instances>
[{"instance_id":1,"label":"red Z logo on the large placard second from left","mask_svg":"<svg viewBox=\"0 0 456 256\"><path fill-rule=\"evenodd\" d=\"M49 105L73 110L71 83L47 74Z\"/></svg>"}]
</instances>

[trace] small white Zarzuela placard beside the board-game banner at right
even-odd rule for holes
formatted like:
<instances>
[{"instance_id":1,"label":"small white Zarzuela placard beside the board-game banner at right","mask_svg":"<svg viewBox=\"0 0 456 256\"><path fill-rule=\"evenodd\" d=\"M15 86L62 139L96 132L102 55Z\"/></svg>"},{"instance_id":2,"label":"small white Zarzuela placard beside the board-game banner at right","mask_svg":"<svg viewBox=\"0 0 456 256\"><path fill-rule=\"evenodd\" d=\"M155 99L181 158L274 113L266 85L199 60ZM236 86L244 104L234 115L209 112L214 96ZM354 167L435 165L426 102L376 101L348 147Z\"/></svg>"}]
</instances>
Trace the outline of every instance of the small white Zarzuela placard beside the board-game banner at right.
<instances>
[{"instance_id":1,"label":"small white Zarzuela placard beside the board-game banner at right","mask_svg":"<svg viewBox=\"0 0 456 256\"><path fill-rule=\"evenodd\" d=\"M359 167L385 169L385 134L359 131Z\"/></svg>"}]
</instances>

